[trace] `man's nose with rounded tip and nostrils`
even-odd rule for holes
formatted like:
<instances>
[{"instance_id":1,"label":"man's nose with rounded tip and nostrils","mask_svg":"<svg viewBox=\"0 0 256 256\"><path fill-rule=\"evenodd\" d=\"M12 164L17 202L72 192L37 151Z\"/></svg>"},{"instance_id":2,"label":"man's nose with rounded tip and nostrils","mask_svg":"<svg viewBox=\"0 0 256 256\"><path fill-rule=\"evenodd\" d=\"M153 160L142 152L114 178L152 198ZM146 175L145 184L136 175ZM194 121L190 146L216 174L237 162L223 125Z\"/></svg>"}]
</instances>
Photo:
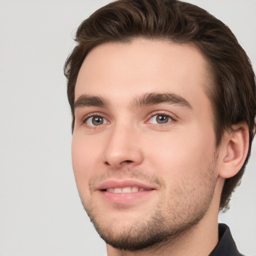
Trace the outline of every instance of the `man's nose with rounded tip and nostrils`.
<instances>
[{"instance_id":1,"label":"man's nose with rounded tip and nostrils","mask_svg":"<svg viewBox=\"0 0 256 256\"><path fill-rule=\"evenodd\" d=\"M143 161L140 135L125 125L113 127L104 149L104 164L115 168L139 165Z\"/></svg>"}]
</instances>

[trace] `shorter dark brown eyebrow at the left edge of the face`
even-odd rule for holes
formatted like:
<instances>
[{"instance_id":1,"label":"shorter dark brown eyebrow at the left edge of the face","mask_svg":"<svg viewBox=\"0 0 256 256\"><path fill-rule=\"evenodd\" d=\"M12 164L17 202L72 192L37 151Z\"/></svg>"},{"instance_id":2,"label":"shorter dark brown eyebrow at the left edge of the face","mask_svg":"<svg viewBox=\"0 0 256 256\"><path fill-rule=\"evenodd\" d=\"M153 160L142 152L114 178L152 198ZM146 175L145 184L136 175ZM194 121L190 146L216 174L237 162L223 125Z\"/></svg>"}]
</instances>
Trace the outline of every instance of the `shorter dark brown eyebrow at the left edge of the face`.
<instances>
[{"instance_id":1,"label":"shorter dark brown eyebrow at the left edge of the face","mask_svg":"<svg viewBox=\"0 0 256 256\"><path fill-rule=\"evenodd\" d=\"M82 94L74 101L74 109L83 106L100 106L107 107L109 105L108 101L101 96L92 96L87 94Z\"/></svg>"}]
</instances>

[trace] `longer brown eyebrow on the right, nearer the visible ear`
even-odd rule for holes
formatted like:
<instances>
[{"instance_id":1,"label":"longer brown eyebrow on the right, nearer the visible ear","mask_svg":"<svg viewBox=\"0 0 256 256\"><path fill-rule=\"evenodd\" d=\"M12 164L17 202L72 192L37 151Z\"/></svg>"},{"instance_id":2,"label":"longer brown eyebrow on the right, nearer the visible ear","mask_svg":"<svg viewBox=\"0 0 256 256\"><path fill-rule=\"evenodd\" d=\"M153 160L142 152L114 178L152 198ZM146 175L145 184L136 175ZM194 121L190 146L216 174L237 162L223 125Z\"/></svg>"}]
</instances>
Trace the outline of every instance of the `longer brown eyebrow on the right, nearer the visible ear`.
<instances>
[{"instance_id":1,"label":"longer brown eyebrow on the right, nearer the visible ear","mask_svg":"<svg viewBox=\"0 0 256 256\"><path fill-rule=\"evenodd\" d=\"M132 107L140 107L140 106L148 106L159 103L168 103L180 105L182 107L186 107L192 109L192 106L189 102L175 93L145 93L143 95L137 96L132 101Z\"/></svg>"}]
</instances>

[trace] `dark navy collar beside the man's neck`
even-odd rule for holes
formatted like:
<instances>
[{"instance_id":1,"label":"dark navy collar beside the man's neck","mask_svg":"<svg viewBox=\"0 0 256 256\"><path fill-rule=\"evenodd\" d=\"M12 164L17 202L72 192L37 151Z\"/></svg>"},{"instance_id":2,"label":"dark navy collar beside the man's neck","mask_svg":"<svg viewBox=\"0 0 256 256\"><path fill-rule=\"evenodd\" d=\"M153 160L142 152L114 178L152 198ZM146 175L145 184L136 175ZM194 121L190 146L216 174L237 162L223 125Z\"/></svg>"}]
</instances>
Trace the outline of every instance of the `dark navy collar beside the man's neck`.
<instances>
[{"instance_id":1,"label":"dark navy collar beside the man's neck","mask_svg":"<svg viewBox=\"0 0 256 256\"><path fill-rule=\"evenodd\" d=\"M229 227L218 224L218 243L209 256L243 256L236 248Z\"/></svg>"}]
</instances>

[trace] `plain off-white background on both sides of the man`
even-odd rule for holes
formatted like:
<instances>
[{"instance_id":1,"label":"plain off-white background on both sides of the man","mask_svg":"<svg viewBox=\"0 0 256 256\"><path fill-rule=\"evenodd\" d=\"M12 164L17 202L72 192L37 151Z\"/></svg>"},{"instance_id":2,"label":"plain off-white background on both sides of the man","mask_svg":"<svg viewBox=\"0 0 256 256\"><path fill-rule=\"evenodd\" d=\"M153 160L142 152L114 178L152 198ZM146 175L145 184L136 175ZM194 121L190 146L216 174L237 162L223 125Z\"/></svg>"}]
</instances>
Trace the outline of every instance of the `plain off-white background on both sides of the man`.
<instances>
[{"instance_id":1,"label":"plain off-white background on both sides of the man","mask_svg":"<svg viewBox=\"0 0 256 256\"><path fill-rule=\"evenodd\" d=\"M103 255L79 201L62 67L80 22L108 0L0 0L0 255ZM226 23L256 68L256 0L189 0ZM230 210L256 255L256 146Z\"/></svg>"}]
</instances>

